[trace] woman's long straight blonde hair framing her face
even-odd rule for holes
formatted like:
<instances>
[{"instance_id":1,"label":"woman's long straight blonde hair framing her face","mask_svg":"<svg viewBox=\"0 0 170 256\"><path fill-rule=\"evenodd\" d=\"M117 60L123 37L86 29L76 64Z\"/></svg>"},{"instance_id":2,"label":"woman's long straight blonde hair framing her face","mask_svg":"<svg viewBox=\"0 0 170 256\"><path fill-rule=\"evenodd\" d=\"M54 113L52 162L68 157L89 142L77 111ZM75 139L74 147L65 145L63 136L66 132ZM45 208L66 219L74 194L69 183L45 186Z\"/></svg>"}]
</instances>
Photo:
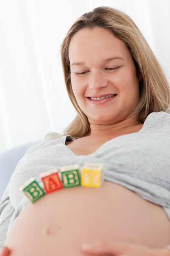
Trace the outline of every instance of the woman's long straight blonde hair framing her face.
<instances>
[{"instance_id":1,"label":"woman's long straight blonde hair framing her face","mask_svg":"<svg viewBox=\"0 0 170 256\"><path fill-rule=\"evenodd\" d=\"M69 29L61 45L62 65L68 96L78 115L65 130L74 138L84 137L90 132L86 115L79 108L71 86L69 43L73 35L83 28L102 27L113 33L128 47L136 66L137 74L141 74L139 82L139 103L135 109L137 124L143 124L151 112L166 111L170 105L170 87L163 70L146 39L133 20L125 13L111 7L97 7L78 18Z\"/></svg>"}]
</instances>

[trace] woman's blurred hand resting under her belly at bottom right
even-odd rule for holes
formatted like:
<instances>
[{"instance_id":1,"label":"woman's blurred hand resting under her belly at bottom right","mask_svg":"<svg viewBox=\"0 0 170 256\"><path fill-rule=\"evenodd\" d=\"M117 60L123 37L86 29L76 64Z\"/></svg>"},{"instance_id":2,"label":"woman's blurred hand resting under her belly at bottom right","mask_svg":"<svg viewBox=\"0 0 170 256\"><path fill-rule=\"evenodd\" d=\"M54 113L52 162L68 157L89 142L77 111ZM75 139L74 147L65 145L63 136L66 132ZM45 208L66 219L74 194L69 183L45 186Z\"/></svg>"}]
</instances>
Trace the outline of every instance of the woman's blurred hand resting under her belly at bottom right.
<instances>
[{"instance_id":1,"label":"woman's blurred hand resting under her belly at bottom right","mask_svg":"<svg viewBox=\"0 0 170 256\"><path fill-rule=\"evenodd\" d=\"M142 245L125 243L121 241L99 241L82 245L82 250L91 255L114 256L170 256L170 249L153 249Z\"/></svg>"}]
</instances>

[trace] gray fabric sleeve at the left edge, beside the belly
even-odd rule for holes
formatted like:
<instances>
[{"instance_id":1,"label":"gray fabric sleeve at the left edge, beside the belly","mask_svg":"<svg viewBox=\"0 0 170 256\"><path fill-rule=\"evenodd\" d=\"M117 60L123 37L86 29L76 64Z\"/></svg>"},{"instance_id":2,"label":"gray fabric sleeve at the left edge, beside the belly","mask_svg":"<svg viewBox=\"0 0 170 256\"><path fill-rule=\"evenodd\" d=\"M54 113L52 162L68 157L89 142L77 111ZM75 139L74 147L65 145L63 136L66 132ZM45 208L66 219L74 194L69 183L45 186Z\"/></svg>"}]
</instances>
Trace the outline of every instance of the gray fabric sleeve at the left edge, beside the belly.
<instances>
[{"instance_id":1,"label":"gray fabric sleeve at the left edge, beside the belly","mask_svg":"<svg viewBox=\"0 0 170 256\"><path fill-rule=\"evenodd\" d=\"M13 216L15 209L9 199L9 185L4 191L2 201L0 202L0 248L3 247L7 237L9 222Z\"/></svg>"}]
</instances>

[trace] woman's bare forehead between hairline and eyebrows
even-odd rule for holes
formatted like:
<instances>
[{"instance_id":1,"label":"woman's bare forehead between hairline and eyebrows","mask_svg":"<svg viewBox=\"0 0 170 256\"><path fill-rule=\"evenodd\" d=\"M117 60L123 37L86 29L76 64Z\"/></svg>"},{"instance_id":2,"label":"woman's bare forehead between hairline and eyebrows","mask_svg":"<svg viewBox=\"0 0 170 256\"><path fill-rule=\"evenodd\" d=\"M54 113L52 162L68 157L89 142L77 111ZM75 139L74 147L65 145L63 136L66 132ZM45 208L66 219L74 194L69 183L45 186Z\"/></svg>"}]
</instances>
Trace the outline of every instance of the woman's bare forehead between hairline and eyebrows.
<instances>
[{"instance_id":1,"label":"woman's bare forehead between hairline and eyebrows","mask_svg":"<svg viewBox=\"0 0 170 256\"><path fill-rule=\"evenodd\" d=\"M125 43L104 28L83 28L75 33L69 44L70 61L77 58L109 58L110 55L129 55ZM112 56L112 57L113 57Z\"/></svg>"}]
</instances>

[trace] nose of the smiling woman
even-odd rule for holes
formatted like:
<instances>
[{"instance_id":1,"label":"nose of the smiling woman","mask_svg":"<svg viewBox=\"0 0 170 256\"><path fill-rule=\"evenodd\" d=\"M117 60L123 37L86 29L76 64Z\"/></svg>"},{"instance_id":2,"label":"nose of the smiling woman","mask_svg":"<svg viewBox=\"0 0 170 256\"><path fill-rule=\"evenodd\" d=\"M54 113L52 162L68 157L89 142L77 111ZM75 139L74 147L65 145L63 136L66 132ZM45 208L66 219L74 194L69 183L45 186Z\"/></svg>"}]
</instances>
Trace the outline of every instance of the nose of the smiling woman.
<instances>
[{"instance_id":1,"label":"nose of the smiling woman","mask_svg":"<svg viewBox=\"0 0 170 256\"><path fill-rule=\"evenodd\" d=\"M107 85L108 85L108 82L104 74L101 74L100 72L91 74L88 82L88 86L90 89L98 91L101 88L106 87Z\"/></svg>"}]
</instances>

